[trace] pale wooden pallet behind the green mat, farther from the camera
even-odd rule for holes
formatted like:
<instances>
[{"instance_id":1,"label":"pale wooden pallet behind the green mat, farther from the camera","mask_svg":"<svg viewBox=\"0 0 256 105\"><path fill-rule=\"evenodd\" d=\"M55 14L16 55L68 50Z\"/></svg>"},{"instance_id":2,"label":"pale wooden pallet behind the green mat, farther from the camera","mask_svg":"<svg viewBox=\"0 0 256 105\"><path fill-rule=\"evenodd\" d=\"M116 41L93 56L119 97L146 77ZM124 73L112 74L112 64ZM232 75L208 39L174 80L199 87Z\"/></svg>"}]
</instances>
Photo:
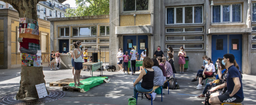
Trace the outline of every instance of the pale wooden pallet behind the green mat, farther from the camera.
<instances>
[{"instance_id":1,"label":"pale wooden pallet behind the green mat, farther from the camera","mask_svg":"<svg viewBox=\"0 0 256 105\"><path fill-rule=\"evenodd\" d=\"M80 79L83 80L83 79ZM62 79L62 80L58 80L56 82L51 82L49 83L50 86L66 86L69 83L74 83L74 79L73 78L66 78L66 79Z\"/></svg>"}]
</instances>

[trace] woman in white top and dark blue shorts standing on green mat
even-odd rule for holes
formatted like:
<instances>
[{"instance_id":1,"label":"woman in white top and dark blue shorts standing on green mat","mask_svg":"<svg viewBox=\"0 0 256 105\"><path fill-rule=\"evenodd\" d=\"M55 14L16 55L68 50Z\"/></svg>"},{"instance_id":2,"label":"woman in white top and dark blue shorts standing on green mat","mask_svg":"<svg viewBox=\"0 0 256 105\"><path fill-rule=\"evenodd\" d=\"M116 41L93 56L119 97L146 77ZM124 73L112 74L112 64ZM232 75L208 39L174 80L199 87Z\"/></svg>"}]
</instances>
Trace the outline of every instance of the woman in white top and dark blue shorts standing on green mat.
<instances>
[{"instance_id":1,"label":"woman in white top and dark blue shorts standing on green mat","mask_svg":"<svg viewBox=\"0 0 256 105\"><path fill-rule=\"evenodd\" d=\"M83 85L81 82L80 82L80 73L81 73L81 69L83 68L83 58L82 58L82 54L83 54L83 51L80 50L80 48L82 47L82 43L80 41L76 41L73 43L74 46L75 46L75 49L74 49L74 67L75 67L75 75L74 75L74 82L75 82L75 86L80 86L80 85ZM76 83L78 82L78 83Z\"/></svg>"}]
</instances>

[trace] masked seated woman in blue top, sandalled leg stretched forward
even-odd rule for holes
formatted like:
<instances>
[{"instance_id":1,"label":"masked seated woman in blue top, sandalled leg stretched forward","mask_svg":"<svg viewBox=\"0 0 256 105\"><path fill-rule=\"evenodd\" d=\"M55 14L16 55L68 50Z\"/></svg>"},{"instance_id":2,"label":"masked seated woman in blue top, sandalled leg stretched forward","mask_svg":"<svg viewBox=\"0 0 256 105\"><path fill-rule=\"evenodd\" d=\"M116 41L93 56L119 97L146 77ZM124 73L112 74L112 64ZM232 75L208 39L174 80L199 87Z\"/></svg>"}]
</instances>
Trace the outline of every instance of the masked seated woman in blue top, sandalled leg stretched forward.
<instances>
[{"instance_id":1,"label":"masked seated woman in blue top, sandalled leg stretched forward","mask_svg":"<svg viewBox=\"0 0 256 105\"><path fill-rule=\"evenodd\" d=\"M216 76L216 80L214 80L213 82L207 83L207 84L206 84L206 87L205 87L204 90L203 90L203 93L200 94L200 95L198 95L198 96L196 96L197 98L205 98L204 94L206 94L206 92L208 91L208 90L207 90L208 87L210 87L211 85L217 86L217 85L221 85L221 84L222 84L222 81L220 82L220 80L223 80L222 77L223 77L223 75L224 75L224 72L227 70L227 69L225 68L225 65L223 65L222 62L221 62L222 59L223 59L223 58L218 58L217 61L216 61L218 64L219 64L219 62L220 62L220 65L221 65L220 67L221 67L221 68L218 68L218 72L221 71L221 74L220 74L220 75L217 75L217 76ZM217 65L217 67L219 67L219 66Z\"/></svg>"}]
</instances>

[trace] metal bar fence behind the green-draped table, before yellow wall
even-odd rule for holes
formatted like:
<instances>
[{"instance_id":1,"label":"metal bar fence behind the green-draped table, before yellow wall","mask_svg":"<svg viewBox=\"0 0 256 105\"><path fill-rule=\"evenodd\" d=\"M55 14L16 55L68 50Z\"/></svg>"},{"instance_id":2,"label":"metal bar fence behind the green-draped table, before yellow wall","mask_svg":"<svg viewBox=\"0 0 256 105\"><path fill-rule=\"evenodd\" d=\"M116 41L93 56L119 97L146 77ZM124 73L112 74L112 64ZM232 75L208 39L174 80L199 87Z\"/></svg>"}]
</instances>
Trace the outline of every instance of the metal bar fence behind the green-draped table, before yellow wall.
<instances>
[{"instance_id":1,"label":"metal bar fence behind the green-draped table, before yellow wall","mask_svg":"<svg viewBox=\"0 0 256 105\"><path fill-rule=\"evenodd\" d=\"M103 65L109 65L109 48L88 48L88 56L92 56L94 52L98 53L98 59L101 57Z\"/></svg>"}]
</instances>

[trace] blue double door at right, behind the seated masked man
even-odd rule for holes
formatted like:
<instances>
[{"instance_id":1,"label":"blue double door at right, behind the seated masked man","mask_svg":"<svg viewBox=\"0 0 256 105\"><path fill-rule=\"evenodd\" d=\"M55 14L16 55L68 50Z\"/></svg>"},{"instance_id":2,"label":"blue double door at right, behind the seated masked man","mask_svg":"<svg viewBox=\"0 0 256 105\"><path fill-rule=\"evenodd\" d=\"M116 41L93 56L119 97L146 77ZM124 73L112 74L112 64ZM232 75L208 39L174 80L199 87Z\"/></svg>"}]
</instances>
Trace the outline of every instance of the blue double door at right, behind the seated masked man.
<instances>
[{"instance_id":1,"label":"blue double door at right, behind the seated masked man","mask_svg":"<svg viewBox=\"0 0 256 105\"><path fill-rule=\"evenodd\" d=\"M212 61L223 58L224 54L230 53L235 56L236 62L242 70L242 35L213 35L211 42Z\"/></svg>"}]
</instances>

